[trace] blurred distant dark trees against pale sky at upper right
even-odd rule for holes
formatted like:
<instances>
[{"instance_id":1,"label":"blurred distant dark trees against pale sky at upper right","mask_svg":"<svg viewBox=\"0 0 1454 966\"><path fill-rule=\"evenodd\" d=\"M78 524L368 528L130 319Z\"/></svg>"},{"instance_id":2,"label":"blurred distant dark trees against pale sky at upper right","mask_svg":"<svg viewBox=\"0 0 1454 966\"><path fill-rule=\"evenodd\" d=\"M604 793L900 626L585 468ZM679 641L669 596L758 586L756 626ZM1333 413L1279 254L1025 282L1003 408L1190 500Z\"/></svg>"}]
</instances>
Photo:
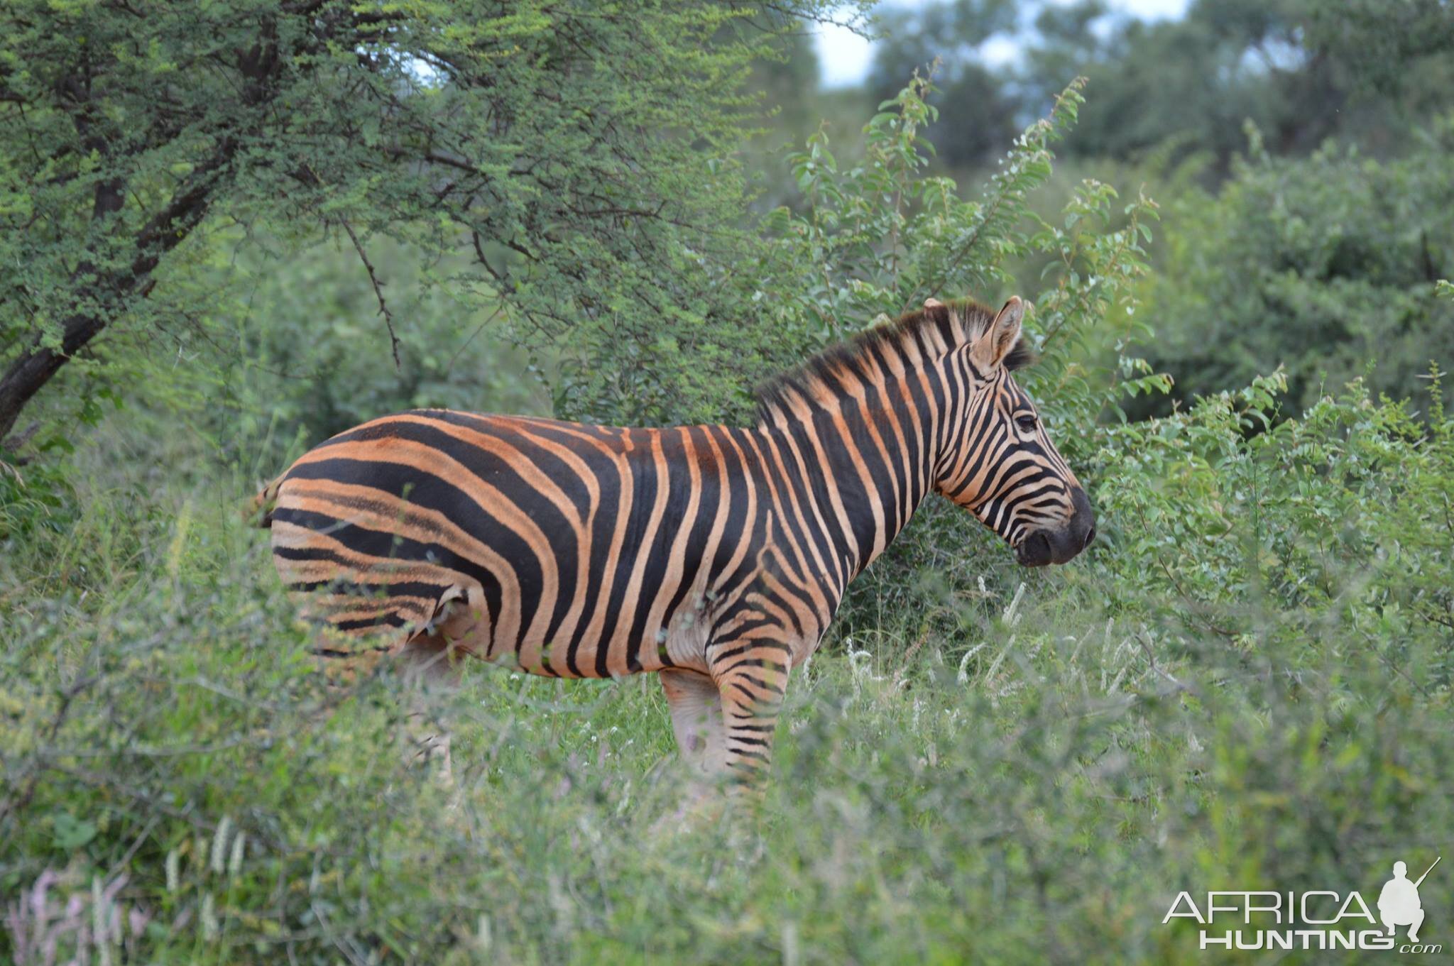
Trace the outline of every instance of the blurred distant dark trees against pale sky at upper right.
<instances>
[{"instance_id":1,"label":"blurred distant dark trees against pale sky at upper right","mask_svg":"<svg viewBox=\"0 0 1454 966\"><path fill-rule=\"evenodd\" d=\"M1106 10L1047 6L1025 58L1031 105L1090 78L1067 153L1127 158L1173 139L1224 171L1250 119L1275 154L1332 135L1399 154L1405 129L1445 103L1454 33L1439 0L1197 0L1157 23Z\"/></svg>"}]
</instances>

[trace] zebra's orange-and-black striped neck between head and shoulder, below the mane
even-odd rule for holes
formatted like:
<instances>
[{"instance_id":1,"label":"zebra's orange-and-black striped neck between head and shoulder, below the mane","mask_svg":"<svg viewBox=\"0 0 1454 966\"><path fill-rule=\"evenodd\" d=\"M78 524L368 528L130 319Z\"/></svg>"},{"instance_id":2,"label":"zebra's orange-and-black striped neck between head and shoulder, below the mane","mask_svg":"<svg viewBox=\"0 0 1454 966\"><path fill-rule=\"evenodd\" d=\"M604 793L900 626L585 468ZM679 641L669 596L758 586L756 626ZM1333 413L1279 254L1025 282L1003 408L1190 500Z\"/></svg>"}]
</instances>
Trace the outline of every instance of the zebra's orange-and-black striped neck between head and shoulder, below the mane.
<instances>
[{"instance_id":1,"label":"zebra's orange-and-black striped neck between head and shoulder, below the mane","mask_svg":"<svg viewBox=\"0 0 1454 966\"><path fill-rule=\"evenodd\" d=\"M919 362L855 368L819 392L779 399L755 430L782 487L788 533L838 597L933 485L942 417L958 394L947 359Z\"/></svg>"}]
</instances>

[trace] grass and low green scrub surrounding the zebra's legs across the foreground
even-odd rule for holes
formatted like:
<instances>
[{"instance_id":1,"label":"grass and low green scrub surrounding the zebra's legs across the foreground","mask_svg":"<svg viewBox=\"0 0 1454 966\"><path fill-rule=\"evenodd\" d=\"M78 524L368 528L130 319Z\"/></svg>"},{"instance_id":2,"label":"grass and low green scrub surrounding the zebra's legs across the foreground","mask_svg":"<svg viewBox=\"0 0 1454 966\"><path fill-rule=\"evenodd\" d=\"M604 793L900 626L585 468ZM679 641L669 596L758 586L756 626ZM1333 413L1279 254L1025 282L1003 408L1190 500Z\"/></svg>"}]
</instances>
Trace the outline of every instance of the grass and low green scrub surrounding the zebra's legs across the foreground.
<instances>
[{"instance_id":1,"label":"grass and low green scrub surrounding the zebra's legs across the foreground","mask_svg":"<svg viewBox=\"0 0 1454 966\"><path fill-rule=\"evenodd\" d=\"M1181 889L1371 896L1454 818L1454 426L1354 389L1248 440L1275 388L1112 427L1088 561L816 657L718 818L680 815L650 678L471 674L441 789L391 677L311 671L209 497L240 481L138 514L97 439L83 519L0 562L0 954L1191 963Z\"/></svg>"}]
</instances>

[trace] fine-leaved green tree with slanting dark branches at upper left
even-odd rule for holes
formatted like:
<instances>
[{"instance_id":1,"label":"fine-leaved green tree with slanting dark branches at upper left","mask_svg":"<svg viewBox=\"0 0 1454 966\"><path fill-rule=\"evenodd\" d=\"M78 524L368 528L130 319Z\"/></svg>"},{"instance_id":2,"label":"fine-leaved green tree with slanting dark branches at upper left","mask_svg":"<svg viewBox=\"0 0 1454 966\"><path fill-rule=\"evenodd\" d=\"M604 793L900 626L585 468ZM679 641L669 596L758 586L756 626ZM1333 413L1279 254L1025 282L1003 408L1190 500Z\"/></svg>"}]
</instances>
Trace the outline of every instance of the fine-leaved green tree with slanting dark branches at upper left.
<instances>
[{"instance_id":1,"label":"fine-leaved green tree with slanting dark branches at upper left","mask_svg":"<svg viewBox=\"0 0 1454 966\"><path fill-rule=\"evenodd\" d=\"M377 234L471 253L457 283L506 302L523 341L740 325L704 266L742 244L743 81L826 7L6 4L0 439L102 333L193 327L205 305L160 282L234 224L346 240L395 357ZM103 389L67 386L58 414Z\"/></svg>"}]
</instances>

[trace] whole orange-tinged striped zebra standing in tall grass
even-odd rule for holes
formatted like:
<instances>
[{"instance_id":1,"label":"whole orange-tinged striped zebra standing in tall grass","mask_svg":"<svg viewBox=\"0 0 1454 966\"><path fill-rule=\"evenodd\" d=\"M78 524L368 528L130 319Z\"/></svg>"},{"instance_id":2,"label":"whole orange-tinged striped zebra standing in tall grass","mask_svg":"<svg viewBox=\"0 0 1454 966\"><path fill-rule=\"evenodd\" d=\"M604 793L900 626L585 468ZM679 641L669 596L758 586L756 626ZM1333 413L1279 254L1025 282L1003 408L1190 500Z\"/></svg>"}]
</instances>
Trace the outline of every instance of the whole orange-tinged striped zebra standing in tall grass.
<instances>
[{"instance_id":1,"label":"whole orange-tinged striped zebra standing in tall grass","mask_svg":"<svg viewBox=\"0 0 1454 966\"><path fill-rule=\"evenodd\" d=\"M260 526L320 655L654 671L682 755L753 784L791 670L931 491L1025 567L1095 537L1012 375L1024 311L931 298L768 383L752 429L385 415L269 484Z\"/></svg>"}]
</instances>

